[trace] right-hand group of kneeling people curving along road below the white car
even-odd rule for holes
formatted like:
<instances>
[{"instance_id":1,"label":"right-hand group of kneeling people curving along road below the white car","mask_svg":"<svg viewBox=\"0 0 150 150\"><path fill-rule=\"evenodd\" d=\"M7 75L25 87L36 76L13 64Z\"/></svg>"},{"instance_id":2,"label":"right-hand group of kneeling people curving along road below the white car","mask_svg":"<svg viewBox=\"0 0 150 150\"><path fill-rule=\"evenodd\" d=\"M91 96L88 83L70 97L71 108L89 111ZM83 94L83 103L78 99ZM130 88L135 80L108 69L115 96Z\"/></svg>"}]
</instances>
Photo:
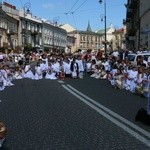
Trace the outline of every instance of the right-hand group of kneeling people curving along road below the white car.
<instances>
[{"instance_id":1,"label":"right-hand group of kneeling people curving along road below the white car","mask_svg":"<svg viewBox=\"0 0 150 150\"><path fill-rule=\"evenodd\" d=\"M107 79L116 89L129 90L132 93L148 97L150 89L150 67L134 66L125 60L101 60L91 63L90 76L96 79Z\"/></svg>"}]
</instances>

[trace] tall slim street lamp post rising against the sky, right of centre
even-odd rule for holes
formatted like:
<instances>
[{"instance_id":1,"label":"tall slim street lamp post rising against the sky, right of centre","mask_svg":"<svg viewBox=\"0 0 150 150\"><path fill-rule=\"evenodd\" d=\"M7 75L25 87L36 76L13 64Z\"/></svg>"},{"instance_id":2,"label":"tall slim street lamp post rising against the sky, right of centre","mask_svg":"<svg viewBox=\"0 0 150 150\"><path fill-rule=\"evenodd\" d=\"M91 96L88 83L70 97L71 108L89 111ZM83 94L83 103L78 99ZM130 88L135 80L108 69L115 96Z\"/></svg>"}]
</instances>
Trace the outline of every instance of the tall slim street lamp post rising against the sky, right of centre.
<instances>
[{"instance_id":1,"label":"tall slim street lamp post rising against the sky, right of centre","mask_svg":"<svg viewBox=\"0 0 150 150\"><path fill-rule=\"evenodd\" d=\"M103 0L99 0L99 3L102 4ZM107 57L107 34L106 34L106 0L104 0L104 23L105 23L105 58Z\"/></svg>"}]
</instances>

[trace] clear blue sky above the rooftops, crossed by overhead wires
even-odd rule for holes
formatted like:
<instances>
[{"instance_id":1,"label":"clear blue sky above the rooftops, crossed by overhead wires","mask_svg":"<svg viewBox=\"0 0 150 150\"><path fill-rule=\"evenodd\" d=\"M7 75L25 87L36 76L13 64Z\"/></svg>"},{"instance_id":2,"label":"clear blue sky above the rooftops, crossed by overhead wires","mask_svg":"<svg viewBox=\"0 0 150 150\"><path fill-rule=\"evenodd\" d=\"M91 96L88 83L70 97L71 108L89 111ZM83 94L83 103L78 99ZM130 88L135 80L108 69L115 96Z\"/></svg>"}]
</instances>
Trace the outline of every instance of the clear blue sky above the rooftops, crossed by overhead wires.
<instances>
[{"instance_id":1,"label":"clear blue sky above the rooftops, crossed by overhead wires","mask_svg":"<svg viewBox=\"0 0 150 150\"><path fill-rule=\"evenodd\" d=\"M57 21L59 24L69 23L78 30L86 30L88 21L93 31L104 28L104 3L99 0L5 0L17 9L30 3L34 16ZM104 0L103 0L104 1ZM127 0L106 0L107 27L112 23L121 28L126 17L124 4Z\"/></svg>"}]
</instances>

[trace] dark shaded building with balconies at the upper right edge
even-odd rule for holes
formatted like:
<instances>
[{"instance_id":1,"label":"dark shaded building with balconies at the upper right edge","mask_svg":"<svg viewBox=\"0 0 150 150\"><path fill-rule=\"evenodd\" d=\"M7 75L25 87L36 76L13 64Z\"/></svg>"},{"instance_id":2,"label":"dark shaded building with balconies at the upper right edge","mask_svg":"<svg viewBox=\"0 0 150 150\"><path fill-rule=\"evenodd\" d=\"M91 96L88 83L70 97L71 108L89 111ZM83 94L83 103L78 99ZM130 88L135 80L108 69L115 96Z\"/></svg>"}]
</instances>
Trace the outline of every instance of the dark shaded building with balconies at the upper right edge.
<instances>
[{"instance_id":1,"label":"dark shaded building with balconies at the upper right edge","mask_svg":"<svg viewBox=\"0 0 150 150\"><path fill-rule=\"evenodd\" d=\"M130 49L150 49L150 1L128 0L126 41Z\"/></svg>"}]
</instances>

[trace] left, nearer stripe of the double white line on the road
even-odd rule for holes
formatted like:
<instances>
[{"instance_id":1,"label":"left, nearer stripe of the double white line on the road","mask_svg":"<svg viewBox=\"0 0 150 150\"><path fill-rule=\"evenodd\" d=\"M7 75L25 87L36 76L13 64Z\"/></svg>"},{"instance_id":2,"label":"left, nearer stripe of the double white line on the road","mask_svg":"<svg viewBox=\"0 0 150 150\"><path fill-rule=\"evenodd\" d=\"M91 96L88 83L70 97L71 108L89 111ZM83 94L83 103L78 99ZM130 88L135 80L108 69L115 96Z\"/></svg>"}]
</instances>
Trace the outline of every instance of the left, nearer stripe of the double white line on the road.
<instances>
[{"instance_id":1,"label":"left, nearer stripe of the double white line on the road","mask_svg":"<svg viewBox=\"0 0 150 150\"><path fill-rule=\"evenodd\" d=\"M62 85L62 87L65 88L72 95L74 95L75 97L77 97L79 100L81 100L82 102L84 102L85 104L87 104L88 106L90 106L91 108L93 108L94 110L96 110L99 114L103 115L105 118L107 118L108 120L110 120L111 122L113 122L114 124L116 124L117 126L119 126L120 128L122 128L123 130L125 130L126 132L128 132L130 135L134 136L139 141L143 142L148 147L150 147L150 140L147 140L144 136L141 136L139 133L133 131L132 129L130 129L129 127L127 127L126 125L124 125L123 123L119 122L118 120L116 120L115 118L113 118L112 116L110 116L109 114L105 113L103 110L101 110L100 108L98 108L97 106L95 106L94 104L92 104L91 102L89 102L87 99L81 97L79 94L77 94L74 91L72 91L71 89L69 89L69 87L67 87L65 85Z\"/></svg>"}]
</instances>

